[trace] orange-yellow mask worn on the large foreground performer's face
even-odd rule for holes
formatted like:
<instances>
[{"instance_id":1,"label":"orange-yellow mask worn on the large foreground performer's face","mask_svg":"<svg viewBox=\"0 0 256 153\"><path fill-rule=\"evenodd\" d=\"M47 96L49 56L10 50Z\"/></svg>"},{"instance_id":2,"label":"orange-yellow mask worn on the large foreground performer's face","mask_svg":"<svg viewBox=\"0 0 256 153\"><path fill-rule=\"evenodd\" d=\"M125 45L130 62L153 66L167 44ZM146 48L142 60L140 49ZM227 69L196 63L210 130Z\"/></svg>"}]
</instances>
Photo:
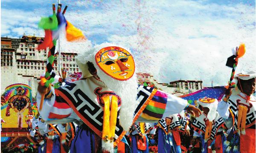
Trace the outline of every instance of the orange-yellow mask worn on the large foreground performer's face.
<instances>
[{"instance_id":1,"label":"orange-yellow mask worn on the large foreground performer's face","mask_svg":"<svg viewBox=\"0 0 256 153\"><path fill-rule=\"evenodd\" d=\"M95 55L95 60L102 71L120 81L130 79L135 71L133 57L128 51L120 47L102 48Z\"/></svg>"}]
</instances>

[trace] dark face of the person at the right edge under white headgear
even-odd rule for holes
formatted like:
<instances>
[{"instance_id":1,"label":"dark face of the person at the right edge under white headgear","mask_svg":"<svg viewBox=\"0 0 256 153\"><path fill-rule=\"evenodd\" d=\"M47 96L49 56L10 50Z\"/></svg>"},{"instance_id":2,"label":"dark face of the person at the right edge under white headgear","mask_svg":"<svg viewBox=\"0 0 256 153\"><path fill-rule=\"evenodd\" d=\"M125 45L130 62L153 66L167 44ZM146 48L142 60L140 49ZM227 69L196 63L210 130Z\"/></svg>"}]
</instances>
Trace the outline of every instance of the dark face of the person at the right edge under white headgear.
<instances>
[{"instance_id":1,"label":"dark face of the person at the right edge under white headgear","mask_svg":"<svg viewBox=\"0 0 256 153\"><path fill-rule=\"evenodd\" d=\"M241 91L243 91L244 94L247 94L248 96L250 96L251 94L254 93L255 78L248 79L248 80L239 79L239 82L237 83L237 86Z\"/></svg>"}]
</instances>

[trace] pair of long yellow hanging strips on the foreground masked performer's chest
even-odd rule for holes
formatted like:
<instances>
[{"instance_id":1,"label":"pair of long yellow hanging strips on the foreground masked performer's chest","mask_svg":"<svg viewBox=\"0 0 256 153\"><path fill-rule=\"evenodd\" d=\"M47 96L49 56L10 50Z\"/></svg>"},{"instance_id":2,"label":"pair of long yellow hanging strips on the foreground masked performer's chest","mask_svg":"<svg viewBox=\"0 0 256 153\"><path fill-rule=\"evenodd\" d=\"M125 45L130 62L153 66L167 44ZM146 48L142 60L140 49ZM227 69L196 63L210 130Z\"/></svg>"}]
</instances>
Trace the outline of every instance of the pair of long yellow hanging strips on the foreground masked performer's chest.
<instances>
[{"instance_id":1,"label":"pair of long yellow hanging strips on the foreground masked performer's chest","mask_svg":"<svg viewBox=\"0 0 256 153\"><path fill-rule=\"evenodd\" d=\"M117 118L117 97L112 96L111 99L111 111L110 108L110 97L103 96L102 100L104 102L104 114L103 114L103 130L102 130L102 139L105 142L108 142L110 139L111 142L114 140L115 129L116 129L116 118Z\"/></svg>"}]
</instances>

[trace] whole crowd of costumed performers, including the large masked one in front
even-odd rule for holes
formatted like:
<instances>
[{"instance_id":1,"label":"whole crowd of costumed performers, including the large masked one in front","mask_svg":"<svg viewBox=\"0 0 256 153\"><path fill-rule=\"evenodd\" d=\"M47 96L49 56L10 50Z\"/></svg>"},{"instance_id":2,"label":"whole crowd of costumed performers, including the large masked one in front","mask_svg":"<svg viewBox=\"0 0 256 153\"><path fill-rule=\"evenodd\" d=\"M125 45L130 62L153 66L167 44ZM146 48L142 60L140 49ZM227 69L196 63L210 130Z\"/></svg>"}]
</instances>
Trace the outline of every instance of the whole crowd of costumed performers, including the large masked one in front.
<instances>
[{"instance_id":1,"label":"whole crowd of costumed performers, including the large masked one in front","mask_svg":"<svg viewBox=\"0 0 256 153\"><path fill-rule=\"evenodd\" d=\"M39 153L255 153L255 71L236 75L227 102L209 95L195 107L137 85L128 49L104 43L76 62L79 80L38 86Z\"/></svg>"}]
</instances>

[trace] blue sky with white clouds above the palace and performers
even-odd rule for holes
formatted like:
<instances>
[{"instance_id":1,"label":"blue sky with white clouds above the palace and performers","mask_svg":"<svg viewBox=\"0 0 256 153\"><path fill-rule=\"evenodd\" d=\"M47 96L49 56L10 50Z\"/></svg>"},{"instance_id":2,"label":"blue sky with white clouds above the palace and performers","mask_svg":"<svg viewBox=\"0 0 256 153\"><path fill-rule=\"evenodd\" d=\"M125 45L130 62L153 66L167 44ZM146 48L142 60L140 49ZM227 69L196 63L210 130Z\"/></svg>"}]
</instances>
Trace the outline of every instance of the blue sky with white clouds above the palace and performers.
<instances>
[{"instance_id":1,"label":"blue sky with white clouds above the palace and performers","mask_svg":"<svg viewBox=\"0 0 256 153\"><path fill-rule=\"evenodd\" d=\"M2 0L1 36L44 36L37 28L52 14L57 0ZM65 17L79 27L88 43L113 42L131 48L137 71L160 82L203 80L224 85L231 49L241 42L247 52L237 72L255 70L255 0L61 0ZM65 42L64 40L62 42ZM65 43L63 49L82 47Z\"/></svg>"}]
</instances>

